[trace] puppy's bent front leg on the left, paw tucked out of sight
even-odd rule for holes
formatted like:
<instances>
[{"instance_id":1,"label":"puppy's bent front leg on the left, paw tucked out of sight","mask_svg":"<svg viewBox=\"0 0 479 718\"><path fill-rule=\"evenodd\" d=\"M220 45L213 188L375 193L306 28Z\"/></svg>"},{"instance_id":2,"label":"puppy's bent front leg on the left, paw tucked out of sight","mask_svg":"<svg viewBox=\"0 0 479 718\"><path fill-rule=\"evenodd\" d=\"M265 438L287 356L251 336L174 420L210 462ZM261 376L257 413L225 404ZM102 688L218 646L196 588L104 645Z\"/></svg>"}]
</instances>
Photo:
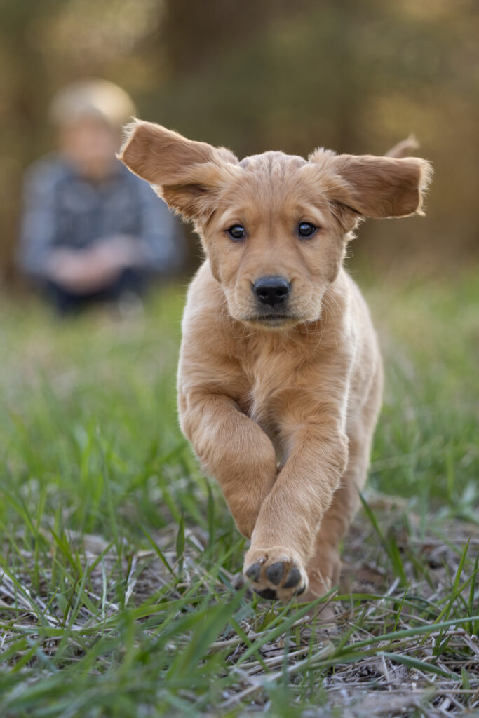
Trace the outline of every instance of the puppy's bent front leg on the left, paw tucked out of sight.
<instances>
[{"instance_id":1,"label":"puppy's bent front leg on the left, paw tucked out of sight","mask_svg":"<svg viewBox=\"0 0 479 718\"><path fill-rule=\"evenodd\" d=\"M180 419L197 457L218 481L238 531L250 538L276 479L273 444L228 396L180 395Z\"/></svg>"}]
</instances>

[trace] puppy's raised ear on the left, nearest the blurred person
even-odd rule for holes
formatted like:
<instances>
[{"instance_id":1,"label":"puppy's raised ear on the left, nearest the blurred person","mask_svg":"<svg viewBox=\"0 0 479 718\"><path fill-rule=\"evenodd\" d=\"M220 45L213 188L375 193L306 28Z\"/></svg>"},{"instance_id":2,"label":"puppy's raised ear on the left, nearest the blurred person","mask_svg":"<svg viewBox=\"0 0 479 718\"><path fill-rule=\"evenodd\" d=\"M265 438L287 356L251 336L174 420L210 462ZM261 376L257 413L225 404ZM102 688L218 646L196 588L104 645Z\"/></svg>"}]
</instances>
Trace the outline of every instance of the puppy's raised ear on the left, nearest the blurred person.
<instances>
[{"instance_id":1,"label":"puppy's raised ear on the left, nearest the blurred person","mask_svg":"<svg viewBox=\"0 0 479 718\"><path fill-rule=\"evenodd\" d=\"M185 219L207 219L215 192L238 163L236 157L223 147L186 139L152 122L135 120L125 134L118 159Z\"/></svg>"}]
</instances>

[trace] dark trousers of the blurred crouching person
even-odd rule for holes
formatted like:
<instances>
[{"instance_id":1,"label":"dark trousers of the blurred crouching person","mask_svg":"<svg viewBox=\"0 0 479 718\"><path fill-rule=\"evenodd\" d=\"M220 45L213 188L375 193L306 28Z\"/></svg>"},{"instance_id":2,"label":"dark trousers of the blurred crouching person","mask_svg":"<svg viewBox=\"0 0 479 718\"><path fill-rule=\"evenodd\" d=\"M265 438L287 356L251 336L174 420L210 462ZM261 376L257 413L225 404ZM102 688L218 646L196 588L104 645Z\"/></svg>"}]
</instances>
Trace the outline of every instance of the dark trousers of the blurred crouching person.
<instances>
[{"instance_id":1,"label":"dark trousers of the blurred crouching person","mask_svg":"<svg viewBox=\"0 0 479 718\"><path fill-rule=\"evenodd\" d=\"M111 284L97 292L75 294L75 292L69 292L68 289L55 284L54 281L48 281L45 286L45 294L48 302L55 307L59 314L71 314L99 302L118 302L118 299L129 293L141 297L146 288L147 277L143 272L136 269L124 269Z\"/></svg>"}]
</instances>

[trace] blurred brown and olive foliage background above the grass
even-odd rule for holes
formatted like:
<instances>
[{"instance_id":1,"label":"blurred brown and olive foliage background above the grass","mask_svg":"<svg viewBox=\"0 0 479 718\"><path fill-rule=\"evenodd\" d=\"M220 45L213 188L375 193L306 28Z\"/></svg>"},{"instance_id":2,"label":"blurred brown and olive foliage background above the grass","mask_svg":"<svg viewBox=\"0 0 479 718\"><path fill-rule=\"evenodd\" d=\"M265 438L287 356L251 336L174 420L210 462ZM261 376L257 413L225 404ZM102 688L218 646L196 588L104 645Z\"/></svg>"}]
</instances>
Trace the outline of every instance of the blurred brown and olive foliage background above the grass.
<instances>
[{"instance_id":1,"label":"blurred brown and olive foliage background above the grass","mask_svg":"<svg viewBox=\"0 0 479 718\"><path fill-rule=\"evenodd\" d=\"M141 118L229 146L382 154L413 132L434 163L427 219L367 223L355 258L455 269L479 252L475 0L1 0L0 268L24 168L52 149L61 85L101 76ZM197 255L197 249L193 250Z\"/></svg>"}]
</instances>

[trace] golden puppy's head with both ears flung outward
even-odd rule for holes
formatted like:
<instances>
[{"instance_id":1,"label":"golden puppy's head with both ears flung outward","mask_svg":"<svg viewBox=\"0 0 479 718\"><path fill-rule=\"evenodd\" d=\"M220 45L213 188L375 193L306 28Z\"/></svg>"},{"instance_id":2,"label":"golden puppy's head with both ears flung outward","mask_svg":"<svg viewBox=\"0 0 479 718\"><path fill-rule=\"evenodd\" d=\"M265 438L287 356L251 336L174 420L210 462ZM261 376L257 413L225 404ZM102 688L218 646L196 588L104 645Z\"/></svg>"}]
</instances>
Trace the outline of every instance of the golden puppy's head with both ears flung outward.
<instances>
[{"instance_id":1,"label":"golden puppy's head with both ears flung outward","mask_svg":"<svg viewBox=\"0 0 479 718\"><path fill-rule=\"evenodd\" d=\"M350 232L361 218L421 214L424 159L336 155L305 160L227 149L136 121L119 155L191 220L236 320L281 329L320 317Z\"/></svg>"}]
</instances>

